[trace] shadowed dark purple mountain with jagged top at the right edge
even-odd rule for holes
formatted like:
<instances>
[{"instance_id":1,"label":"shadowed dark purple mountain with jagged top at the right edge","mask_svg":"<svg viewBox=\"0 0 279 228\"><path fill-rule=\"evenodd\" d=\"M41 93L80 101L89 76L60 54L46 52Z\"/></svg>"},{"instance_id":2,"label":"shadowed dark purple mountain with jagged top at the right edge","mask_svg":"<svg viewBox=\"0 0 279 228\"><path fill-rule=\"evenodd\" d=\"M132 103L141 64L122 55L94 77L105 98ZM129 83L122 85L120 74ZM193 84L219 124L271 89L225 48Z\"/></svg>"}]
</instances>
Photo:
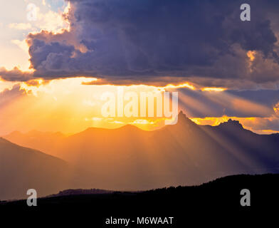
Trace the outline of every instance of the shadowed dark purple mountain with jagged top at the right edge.
<instances>
[{"instance_id":1,"label":"shadowed dark purple mountain with jagged top at the right edge","mask_svg":"<svg viewBox=\"0 0 279 228\"><path fill-rule=\"evenodd\" d=\"M229 151L246 166L258 170L278 170L279 134L257 135L246 130L238 121L229 120L212 128L202 127L206 133L219 138Z\"/></svg>"}]
</instances>

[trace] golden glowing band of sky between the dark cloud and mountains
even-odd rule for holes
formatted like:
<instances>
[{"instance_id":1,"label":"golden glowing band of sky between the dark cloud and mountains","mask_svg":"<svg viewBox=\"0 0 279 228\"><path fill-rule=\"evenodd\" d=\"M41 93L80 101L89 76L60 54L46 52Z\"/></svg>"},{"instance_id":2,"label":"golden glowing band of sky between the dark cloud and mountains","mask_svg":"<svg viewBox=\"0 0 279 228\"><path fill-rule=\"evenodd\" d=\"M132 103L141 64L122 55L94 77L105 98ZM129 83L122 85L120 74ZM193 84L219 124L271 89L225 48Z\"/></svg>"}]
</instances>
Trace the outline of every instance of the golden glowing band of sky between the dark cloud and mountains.
<instances>
[{"instance_id":1,"label":"golden glowing band of sky between the dark cloud and mountains","mask_svg":"<svg viewBox=\"0 0 279 228\"><path fill-rule=\"evenodd\" d=\"M203 93L199 86L192 87L189 83L169 84L168 86L159 87L94 85L91 83L94 81L98 81L98 78L76 77L49 81L37 78L26 82L0 81L0 92L11 90L11 94L16 93L16 91L12 91L13 86L16 84L19 84L19 89L24 92L19 93L24 95L19 96L19 98L1 108L1 133L9 133L12 130L24 132L33 129L77 133L90 127L120 128L122 125L127 124L135 125L143 130L156 130L164 126L166 118L105 118L101 113L104 101L100 99L100 96L107 91L117 93L119 88L123 88L125 91L135 91L136 93L162 93L168 89L172 90L172 88L187 88L194 90L193 93ZM238 98L235 95L226 93L223 89L210 88L205 92L211 92L204 93L204 95L211 102L219 105L226 106L229 104L231 108L238 108L238 111L242 113L252 112L268 115L269 110L265 106ZM260 125L260 120L263 120L263 118L238 118L227 115L210 117L210 114L214 113L211 105L201 102L201 100L186 93L179 93L179 105L184 105L186 107L186 115L199 125L219 125L231 118L239 120L244 128L258 132L255 130L257 129L255 126ZM273 110L274 115L277 115L279 112L278 105L275 105ZM209 113L209 117L195 118L193 113L196 112ZM21 113L21 115L18 115L18 113ZM31 116L32 121L30 122ZM266 134L270 133L270 131L266 129L265 132L258 133Z\"/></svg>"}]
</instances>

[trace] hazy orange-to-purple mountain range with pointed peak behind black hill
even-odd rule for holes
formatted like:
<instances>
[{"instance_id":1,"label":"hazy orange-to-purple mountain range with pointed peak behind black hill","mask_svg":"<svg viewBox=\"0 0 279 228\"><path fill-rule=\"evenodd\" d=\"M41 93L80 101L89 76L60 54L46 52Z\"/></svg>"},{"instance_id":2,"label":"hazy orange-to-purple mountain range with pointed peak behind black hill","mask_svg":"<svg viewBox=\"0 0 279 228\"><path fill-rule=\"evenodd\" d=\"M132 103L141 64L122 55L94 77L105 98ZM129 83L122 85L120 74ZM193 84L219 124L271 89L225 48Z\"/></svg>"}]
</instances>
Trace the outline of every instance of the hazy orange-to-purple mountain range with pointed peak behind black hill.
<instances>
[{"instance_id":1,"label":"hazy orange-to-purple mountain range with pointed peak behind black hill","mask_svg":"<svg viewBox=\"0 0 279 228\"><path fill-rule=\"evenodd\" d=\"M148 190L199 185L226 175L279 171L279 134L257 135L236 120L218 126L197 125L184 113L179 113L176 125L154 131L125 125L117 129L88 128L70 136L33 131L4 138L67 162L70 171L63 170L68 188ZM8 154L9 150L0 148L1 156ZM6 166L16 172L18 163L21 159L14 158ZM46 170L55 167L51 162L44 166ZM15 180L20 177L14 175Z\"/></svg>"}]
</instances>

